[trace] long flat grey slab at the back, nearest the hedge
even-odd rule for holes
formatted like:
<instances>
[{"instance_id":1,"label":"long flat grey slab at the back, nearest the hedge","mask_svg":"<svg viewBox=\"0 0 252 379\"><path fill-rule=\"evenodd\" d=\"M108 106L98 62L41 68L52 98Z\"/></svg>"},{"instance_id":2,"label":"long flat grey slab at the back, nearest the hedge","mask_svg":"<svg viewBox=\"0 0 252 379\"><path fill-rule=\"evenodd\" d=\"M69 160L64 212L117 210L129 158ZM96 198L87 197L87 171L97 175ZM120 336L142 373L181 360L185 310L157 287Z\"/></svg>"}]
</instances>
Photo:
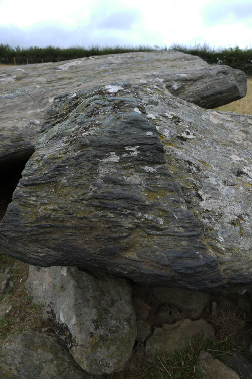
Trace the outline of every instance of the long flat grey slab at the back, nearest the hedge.
<instances>
[{"instance_id":1,"label":"long flat grey slab at the back, nearest the hedge","mask_svg":"<svg viewBox=\"0 0 252 379\"><path fill-rule=\"evenodd\" d=\"M1 68L0 170L27 160L55 96L73 88L129 80L168 88L175 96L214 108L246 94L246 75L181 52L140 52ZM7 167L8 165L8 167Z\"/></svg>"}]
</instances>

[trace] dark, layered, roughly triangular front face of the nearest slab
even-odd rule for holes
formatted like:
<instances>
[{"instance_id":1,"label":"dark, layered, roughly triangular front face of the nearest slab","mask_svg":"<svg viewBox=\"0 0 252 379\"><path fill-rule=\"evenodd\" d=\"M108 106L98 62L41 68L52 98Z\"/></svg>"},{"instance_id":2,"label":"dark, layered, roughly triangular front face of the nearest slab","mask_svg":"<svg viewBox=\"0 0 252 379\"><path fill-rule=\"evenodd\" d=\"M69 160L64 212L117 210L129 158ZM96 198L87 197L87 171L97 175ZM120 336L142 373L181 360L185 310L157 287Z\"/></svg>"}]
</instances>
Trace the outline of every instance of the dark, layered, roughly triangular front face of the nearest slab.
<instances>
[{"instance_id":1,"label":"dark, layered, roughly triangular front face of the nearest slab","mask_svg":"<svg viewBox=\"0 0 252 379\"><path fill-rule=\"evenodd\" d=\"M144 285L220 285L152 117L129 83L58 97L0 224L3 252Z\"/></svg>"}]
</instances>

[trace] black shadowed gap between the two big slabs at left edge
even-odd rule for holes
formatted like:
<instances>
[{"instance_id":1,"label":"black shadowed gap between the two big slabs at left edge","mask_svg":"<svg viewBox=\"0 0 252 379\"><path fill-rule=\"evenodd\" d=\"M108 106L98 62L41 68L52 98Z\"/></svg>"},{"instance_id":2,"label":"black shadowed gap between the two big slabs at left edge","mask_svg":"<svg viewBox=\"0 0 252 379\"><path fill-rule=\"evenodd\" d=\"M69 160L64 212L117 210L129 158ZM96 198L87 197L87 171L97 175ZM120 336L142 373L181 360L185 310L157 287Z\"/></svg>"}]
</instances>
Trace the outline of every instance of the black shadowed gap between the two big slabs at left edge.
<instances>
[{"instance_id":1,"label":"black shadowed gap between the two big slabs at left edge","mask_svg":"<svg viewBox=\"0 0 252 379\"><path fill-rule=\"evenodd\" d=\"M12 194L22 176L26 162L27 161L21 161L16 164L15 168L10 168L8 171L0 173L0 221L5 215L8 204L12 202Z\"/></svg>"}]
</instances>

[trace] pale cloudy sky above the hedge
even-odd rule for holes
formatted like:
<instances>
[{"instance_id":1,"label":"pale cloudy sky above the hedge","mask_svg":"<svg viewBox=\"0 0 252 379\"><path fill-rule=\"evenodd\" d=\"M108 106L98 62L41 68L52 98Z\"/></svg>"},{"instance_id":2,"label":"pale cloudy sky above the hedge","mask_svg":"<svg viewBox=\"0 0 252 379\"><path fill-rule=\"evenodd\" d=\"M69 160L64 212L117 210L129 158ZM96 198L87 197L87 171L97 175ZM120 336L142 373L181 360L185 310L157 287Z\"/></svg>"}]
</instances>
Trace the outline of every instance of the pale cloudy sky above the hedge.
<instances>
[{"instance_id":1,"label":"pale cloudy sky above the hedge","mask_svg":"<svg viewBox=\"0 0 252 379\"><path fill-rule=\"evenodd\" d=\"M252 0L0 0L0 43L252 47Z\"/></svg>"}]
</instances>

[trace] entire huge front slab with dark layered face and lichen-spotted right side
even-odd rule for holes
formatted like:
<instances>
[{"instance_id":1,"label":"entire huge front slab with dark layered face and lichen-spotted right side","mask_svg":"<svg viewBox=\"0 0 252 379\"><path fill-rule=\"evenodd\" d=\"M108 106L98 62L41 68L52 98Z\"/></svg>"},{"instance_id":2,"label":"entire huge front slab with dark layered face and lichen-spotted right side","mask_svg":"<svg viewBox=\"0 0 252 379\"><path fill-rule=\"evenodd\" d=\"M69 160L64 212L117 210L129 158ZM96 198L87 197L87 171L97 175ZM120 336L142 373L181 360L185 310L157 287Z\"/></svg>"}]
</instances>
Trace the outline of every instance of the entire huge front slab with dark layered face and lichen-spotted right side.
<instances>
[{"instance_id":1,"label":"entire huge front slab with dark layered face and lichen-spotted right side","mask_svg":"<svg viewBox=\"0 0 252 379\"><path fill-rule=\"evenodd\" d=\"M251 125L124 82L56 98L2 251L141 285L251 286Z\"/></svg>"}]
</instances>

